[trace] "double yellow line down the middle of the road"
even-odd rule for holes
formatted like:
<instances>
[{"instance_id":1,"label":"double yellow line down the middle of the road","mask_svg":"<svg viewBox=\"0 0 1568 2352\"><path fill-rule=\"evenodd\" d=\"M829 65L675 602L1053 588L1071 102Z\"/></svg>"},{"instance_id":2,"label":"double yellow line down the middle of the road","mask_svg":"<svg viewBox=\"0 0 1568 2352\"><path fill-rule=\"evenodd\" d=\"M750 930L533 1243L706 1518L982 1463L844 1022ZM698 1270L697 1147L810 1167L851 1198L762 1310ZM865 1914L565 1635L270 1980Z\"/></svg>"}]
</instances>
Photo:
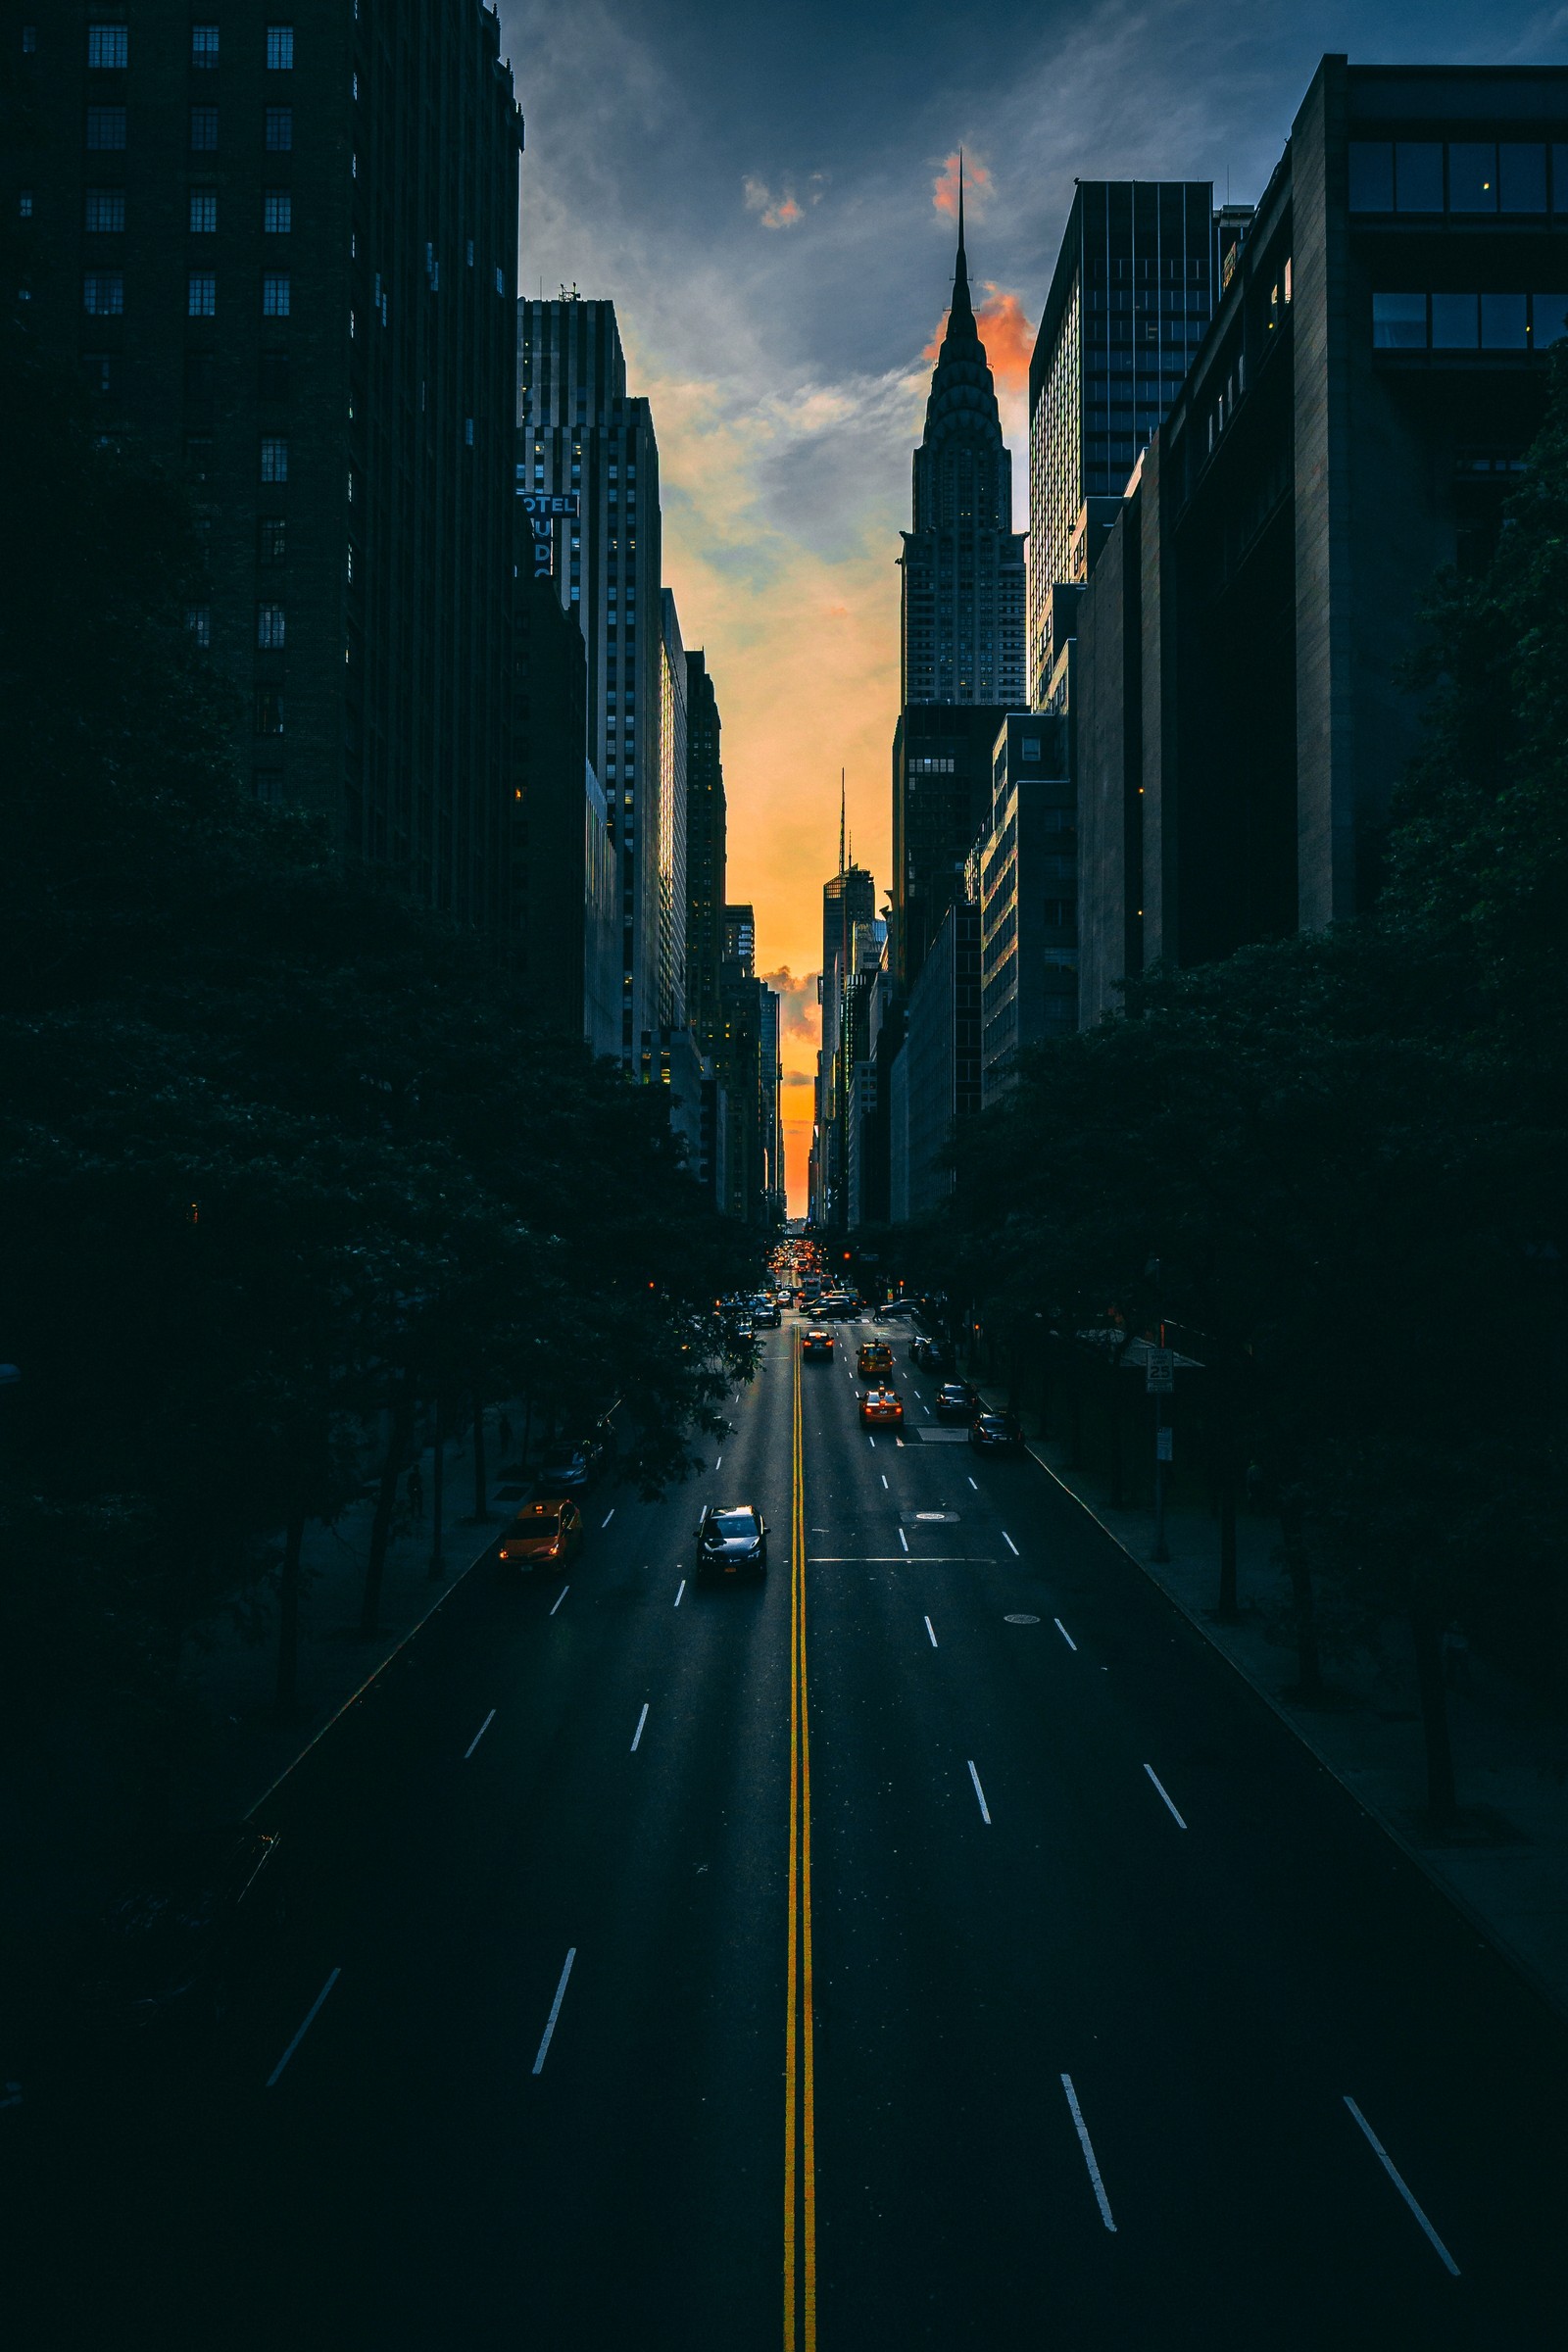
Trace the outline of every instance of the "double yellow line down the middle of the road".
<instances>
[{"instance_id":1,"label":"double yellow line down the middle of the road","mask_svg":"<svg viewBox=\"0 0 1568 2352\"><path fill-rule=\"evenodd\" d=\"M811 2027L811 1717L806 1710L806 1482L795 1341L790 1496L790 2013L785 2020L785 2352L816 2352L816 2051Z\"/></svg>"}]
</instances>

